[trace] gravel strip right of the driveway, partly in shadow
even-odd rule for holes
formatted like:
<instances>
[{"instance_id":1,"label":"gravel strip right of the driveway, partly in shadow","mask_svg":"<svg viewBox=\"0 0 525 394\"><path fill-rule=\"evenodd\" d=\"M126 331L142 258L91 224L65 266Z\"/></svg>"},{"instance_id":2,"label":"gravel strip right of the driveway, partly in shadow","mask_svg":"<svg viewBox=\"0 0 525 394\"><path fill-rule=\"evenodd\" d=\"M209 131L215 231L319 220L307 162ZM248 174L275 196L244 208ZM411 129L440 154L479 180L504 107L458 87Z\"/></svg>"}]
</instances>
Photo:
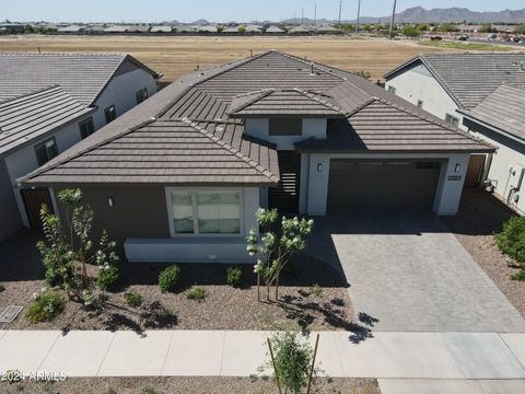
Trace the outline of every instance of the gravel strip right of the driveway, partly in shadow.
<instances>
[{"instance_id":1,"label":"gravel strip right of the driveway, partly in shadow","mask_svg":"<svg viewBox=\"0 0 525 394\"><path fill-rule=\"evenodd\" d=\"M525 316L525 282L510 279L518 269L510 267L515 262L500 252L493 236L494 232L501 231L502 223L514 215L516 213L491 194L466 188L459 212L442 220L522 316Z\"/></svg>"}]
</instances>

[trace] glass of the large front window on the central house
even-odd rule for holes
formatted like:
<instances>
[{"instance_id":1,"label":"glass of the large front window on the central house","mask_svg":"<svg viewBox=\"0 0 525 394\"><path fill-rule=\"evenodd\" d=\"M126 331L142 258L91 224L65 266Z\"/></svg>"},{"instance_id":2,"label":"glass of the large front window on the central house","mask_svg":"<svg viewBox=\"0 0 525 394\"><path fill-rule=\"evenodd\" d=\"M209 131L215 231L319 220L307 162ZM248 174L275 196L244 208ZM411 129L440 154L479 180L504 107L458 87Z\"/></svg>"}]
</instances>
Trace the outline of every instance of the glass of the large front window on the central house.
<instances>
[{"instance_id":1,"label":"glass of the large front window on the central house","mask_svg":"<svg viewBox=\"0 0 525 394\"><path fill-rule=\"evenodd\" d=\"M240 190L168 194L174 234L241 234Z\"/></svg>"}]
</instances>

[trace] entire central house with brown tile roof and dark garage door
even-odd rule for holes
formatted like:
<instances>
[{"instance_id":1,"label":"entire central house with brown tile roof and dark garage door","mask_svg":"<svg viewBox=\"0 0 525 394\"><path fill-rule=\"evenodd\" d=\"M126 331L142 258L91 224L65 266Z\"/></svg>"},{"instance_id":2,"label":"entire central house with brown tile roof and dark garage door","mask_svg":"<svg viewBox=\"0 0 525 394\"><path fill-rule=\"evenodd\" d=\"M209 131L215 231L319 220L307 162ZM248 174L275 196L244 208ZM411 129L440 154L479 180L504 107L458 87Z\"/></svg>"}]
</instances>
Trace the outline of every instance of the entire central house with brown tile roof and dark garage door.
<instances>
[{"instance_id":1,"label":"entire central house with brown tile roof and dark garage door","mask_svg":"<svg viewBox=\"0 0 525 394\"><path fill-rule=\"evenodd\" d=\"M80 187L130 262L247 262L259 206L457 211L493 148L350 72L279 51L197 72L19 179Z\"/></svg>"}]
</instances>

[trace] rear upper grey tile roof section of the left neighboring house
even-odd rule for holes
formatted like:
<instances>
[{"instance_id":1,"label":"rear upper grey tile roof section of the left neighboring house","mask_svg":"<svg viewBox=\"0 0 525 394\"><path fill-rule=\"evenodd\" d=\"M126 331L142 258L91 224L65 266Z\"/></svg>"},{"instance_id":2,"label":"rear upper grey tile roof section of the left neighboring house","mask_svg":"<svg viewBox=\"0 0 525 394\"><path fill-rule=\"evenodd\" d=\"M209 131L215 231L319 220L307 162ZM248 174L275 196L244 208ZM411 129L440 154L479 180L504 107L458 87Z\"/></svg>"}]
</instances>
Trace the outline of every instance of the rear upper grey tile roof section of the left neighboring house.
<instances>
[{"instance_id":1,"label":"rear upper grey tile roof section of the left neighboring house","mask_svg":"<svg viewBox=\"0 0 525 394\"><path fill-rule=\"evenodd\" d=\"M126 59L154 73L125 54L0 54L0 100L58 84L90 105Z\"/></svg>"}]
</instances>

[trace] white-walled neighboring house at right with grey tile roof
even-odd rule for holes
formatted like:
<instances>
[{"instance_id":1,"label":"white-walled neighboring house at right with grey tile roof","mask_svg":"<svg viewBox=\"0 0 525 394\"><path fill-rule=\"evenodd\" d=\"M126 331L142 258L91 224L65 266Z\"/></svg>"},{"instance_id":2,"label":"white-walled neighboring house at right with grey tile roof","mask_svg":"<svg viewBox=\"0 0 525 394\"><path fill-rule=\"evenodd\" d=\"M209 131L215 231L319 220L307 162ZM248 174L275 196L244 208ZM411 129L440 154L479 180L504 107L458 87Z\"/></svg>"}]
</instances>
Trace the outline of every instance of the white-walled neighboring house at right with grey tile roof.
<instances>
[{"instance_id":1,"label":"white-walled neighboring house at right with grey tile roof","mask_svg":"<svg viewBox=\"0 0 525 394\"><path fill-rule=\"evenodd\" d=\"M495 146L487 160L472 155L467 183L488 181L502 200L525 211L525 54L423 54L385 78L388 91Z\"/></svg>"}]
</instances>

